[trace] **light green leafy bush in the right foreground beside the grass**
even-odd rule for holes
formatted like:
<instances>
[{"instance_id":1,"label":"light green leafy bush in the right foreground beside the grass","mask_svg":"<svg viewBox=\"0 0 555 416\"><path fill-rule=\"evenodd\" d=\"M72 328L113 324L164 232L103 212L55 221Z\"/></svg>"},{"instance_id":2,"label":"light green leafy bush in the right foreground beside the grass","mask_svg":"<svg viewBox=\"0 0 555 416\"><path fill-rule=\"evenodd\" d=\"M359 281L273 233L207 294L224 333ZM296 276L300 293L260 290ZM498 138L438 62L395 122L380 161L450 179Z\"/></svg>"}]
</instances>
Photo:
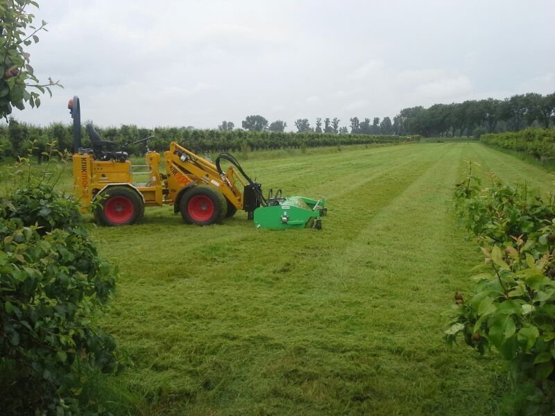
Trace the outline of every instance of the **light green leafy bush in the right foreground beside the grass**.
<instances>
[{"instance_id":1,"label":"light green leafy bush in the right foreground beside the grass","mask_svg":"<svg viewBox=\"0 0 555 416\"><path fill-rule=\"evenodd\" d=\"M460 218L477 237L484 263L472 279L476 293L456 293L453 321L445 331L484 354L495 347L513 374L536 382L529 411L554 411L555 399L555 200L527 184L504 185L491 177L480 189L471 175L457 184Z\"/></svg>"}]
</instances>

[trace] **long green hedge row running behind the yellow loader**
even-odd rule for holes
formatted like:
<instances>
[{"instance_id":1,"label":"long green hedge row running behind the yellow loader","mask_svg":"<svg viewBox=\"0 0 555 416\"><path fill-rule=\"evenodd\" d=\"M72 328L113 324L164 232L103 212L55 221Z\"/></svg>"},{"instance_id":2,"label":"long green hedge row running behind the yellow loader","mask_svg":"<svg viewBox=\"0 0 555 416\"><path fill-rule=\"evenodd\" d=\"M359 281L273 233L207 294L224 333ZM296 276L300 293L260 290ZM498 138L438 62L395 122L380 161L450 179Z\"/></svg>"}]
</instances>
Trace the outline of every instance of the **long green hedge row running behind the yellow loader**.
<instances>
[{"instance_id":1,"label":"long green hedge row running behind the yellow loader","mask_svg":"<svg viewBox=\"0 0 555 416\"><path fill-rule=\"evenodd\" d=\"M96 128L104 140L115 141L114 150L125 150L130 154L142 155L145 147L134 144L139 139L154 135L148 141L151 150L164 152L171 141L178 141L182 146L195 153L238 152L248 150L273 150L280 148L313 148L320 146L349 146L353 144L401 143L417 141L418 136L404 137L395 135L328 135L315 132L272 132L248 130L191 130L189 128L155 128L154 130L138 128L136 125L121 127ZM82 146L90 147L90 139L82 128ZM40 157L46 144L56 141L59 150L73 151L73 130L71 125L52 123L46 127L37 127L10 119L7 126L0 125L0 158L2 156L28 155L31 144L33 153Z\"/></svg>"}]
</instances>

